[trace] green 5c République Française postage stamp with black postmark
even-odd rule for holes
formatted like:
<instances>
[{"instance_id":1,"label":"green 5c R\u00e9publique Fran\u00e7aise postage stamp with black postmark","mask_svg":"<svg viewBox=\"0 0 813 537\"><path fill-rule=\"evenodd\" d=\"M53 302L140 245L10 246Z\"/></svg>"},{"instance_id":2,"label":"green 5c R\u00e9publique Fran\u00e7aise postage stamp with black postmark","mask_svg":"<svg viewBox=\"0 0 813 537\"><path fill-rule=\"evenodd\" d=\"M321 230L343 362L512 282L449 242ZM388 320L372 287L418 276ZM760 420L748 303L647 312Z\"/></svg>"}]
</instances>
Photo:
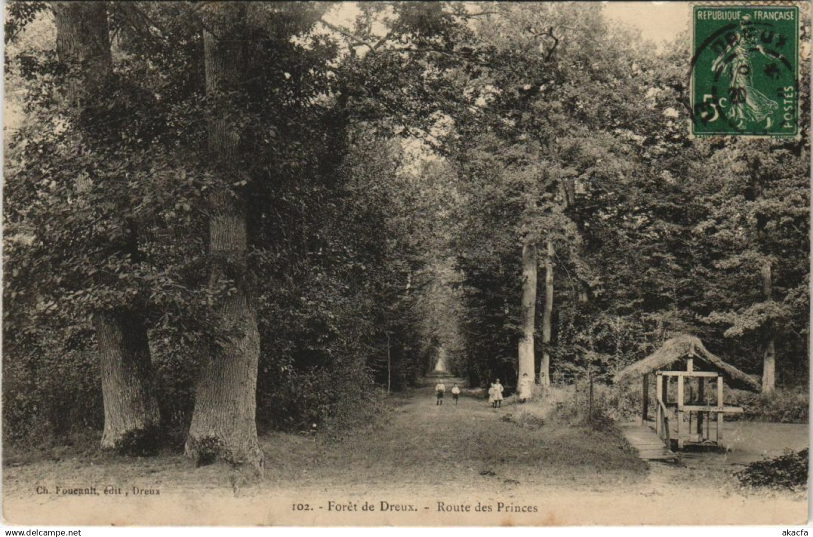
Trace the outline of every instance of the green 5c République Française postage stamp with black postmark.
<instances>
[{"instance_id":1,"label":"green 5c R\u00e9publique Fran\u00e7aise postage stamp with black postmark","mask_svg":"<svg viewBox=\"0 0 813 537\"><path fill-rule=\"evenodd\" d=\"M695 6L692 134L796 136L797 6Z\"/></svg>"}]
</instances>

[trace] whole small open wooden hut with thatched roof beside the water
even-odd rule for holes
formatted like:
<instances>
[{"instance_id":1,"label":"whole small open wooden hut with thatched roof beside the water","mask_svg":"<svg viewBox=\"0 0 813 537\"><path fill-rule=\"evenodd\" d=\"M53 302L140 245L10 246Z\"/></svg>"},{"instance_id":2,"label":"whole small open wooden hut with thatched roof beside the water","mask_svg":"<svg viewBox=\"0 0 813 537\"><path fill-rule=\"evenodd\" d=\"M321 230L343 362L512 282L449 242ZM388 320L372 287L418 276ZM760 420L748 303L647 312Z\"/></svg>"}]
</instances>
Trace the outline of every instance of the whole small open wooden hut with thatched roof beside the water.
<instances>
[{"instance_id":1,"label":"whole small open wooden hut with thatched roof beside the water","mask_svg":"<svg viewBox=\"0 0 813 537\"><path fill-rule=\"evenodd\" d=\"M697 337L675 336L650 356L615 375L616 383L643 379L642 426L649 421L650 375L654 375L657 403L655 432L670 449L672 444L678 449L686 444L720 445L724 415L742 412L738 406L725 405L724 382L733 388L759 391L759 381L710 353ZM670 401L672 379L676 383L674 401ZM672 415L674 421L670 420ZM688 430L684 428L687 416ZM712 421L716 422L715 440L710 437Z\"/></svg>"}]
</instances>

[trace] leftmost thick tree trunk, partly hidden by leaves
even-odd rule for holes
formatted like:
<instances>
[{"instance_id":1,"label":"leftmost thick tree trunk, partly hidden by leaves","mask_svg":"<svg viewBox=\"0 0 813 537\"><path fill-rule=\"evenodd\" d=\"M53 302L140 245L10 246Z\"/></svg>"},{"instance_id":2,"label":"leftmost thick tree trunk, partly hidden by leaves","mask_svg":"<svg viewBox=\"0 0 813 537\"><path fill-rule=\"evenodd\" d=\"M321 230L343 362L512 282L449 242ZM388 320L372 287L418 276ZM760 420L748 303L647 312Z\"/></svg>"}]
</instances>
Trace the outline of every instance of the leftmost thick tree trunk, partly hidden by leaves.
<instances>
[{"instance_id":1,"label":"leftmost thick tree trunk, partly hidden by leaves","mask_svg":"<svg viewBox=\"0 0 813 537\"><path fill-rule=\"evenodd\" d=\"M65 104L80 109L113 69L104 2L54 2L57 54L70 69ZM87 191L89 182L76 185ZM135 227L122 249L137 257ZM102 377L102 448L147 455L160 426L146 326L133 305L93 315Z\"/></svg>"}]
</instances>

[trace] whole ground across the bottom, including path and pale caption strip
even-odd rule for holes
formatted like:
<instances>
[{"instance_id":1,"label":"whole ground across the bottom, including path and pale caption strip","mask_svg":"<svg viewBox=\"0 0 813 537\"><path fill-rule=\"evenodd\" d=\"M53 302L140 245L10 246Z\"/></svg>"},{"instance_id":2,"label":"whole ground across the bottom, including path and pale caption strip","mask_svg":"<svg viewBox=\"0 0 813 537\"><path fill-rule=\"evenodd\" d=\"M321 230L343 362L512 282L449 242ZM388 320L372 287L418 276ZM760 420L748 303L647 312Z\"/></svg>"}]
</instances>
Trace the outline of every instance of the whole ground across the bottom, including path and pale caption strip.
<instances>
[{"instance_id":1,"label":"whole ground across the bottom, including path and pale caption strip","mask_svg":"<svg viewBox=\"0 0 813 537\"><path fill-rule=\"evenodd\" d=\"M118 517L120 524L240 526L806 520L801 496L743 495L731 471L720 466L647 466L611 431L554 421L530 426L517 421L523 410L511 400L502 409L474 396L461 396L456 406L447 396L436 405L430 384L393 394L386 418L341 440L263 435L267 474L259 482L228 466L195 468L180 454L7 466L4 514L18 523ZM57 496L56 486L114 486L130 496ZM37 494L37 487L50 492ZM133 487L159 490L160 496L134 497ZM364 502L376 510L363 513ZM349 507L338 510L340 504ZM447 512L439 504L472 511ZM493 510L478 513L478 504ZM506 513L500 505L535 510Z\"/></svg>"}]
</instances>

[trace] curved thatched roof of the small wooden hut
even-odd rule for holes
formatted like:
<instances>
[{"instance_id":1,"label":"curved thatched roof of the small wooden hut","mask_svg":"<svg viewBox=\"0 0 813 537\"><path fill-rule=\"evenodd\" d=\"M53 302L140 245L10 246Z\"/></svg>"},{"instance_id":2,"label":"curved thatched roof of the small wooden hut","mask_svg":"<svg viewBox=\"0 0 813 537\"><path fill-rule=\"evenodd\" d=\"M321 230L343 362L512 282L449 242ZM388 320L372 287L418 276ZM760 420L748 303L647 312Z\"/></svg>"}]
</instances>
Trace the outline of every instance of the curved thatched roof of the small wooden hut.
<instances>
[{"instance_id":1,"label":"curved thatched roof of the small wooden hut","mask_svg":"<svg viewBox=\"0 0 813 537\"><path fill-rule=\"evenodd\" d=\"M710 353L701 340L688 334L680 334L671 340L664 341L660 349L621 370L618 375L615 375L614 380L616 383L624 383L631 379L640 379L641 375L667 369L675 362L690 355L693 356L698 370L719 372L732 388L759 391L759 380L723 362L719 357Z\"/></svg>"}]
</instances>

